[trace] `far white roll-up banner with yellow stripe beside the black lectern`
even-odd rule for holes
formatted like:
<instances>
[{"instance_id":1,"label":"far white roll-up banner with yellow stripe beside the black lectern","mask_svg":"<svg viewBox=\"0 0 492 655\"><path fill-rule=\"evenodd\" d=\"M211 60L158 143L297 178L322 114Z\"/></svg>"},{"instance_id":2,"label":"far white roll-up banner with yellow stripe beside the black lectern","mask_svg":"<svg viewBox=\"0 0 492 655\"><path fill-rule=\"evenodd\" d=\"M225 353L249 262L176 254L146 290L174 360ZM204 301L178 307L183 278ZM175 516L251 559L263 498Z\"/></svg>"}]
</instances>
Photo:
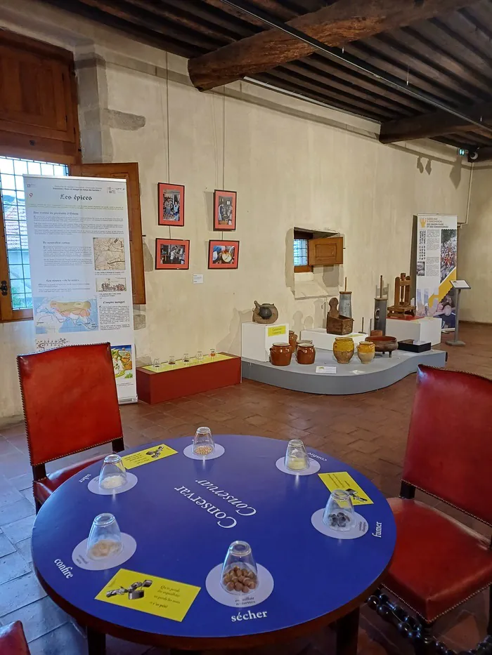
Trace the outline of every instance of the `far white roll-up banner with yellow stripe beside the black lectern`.
<instances>
[{"instance_id":1,"label":"far white roll-up banner with yellow stripe beside the black lectern","mask_svg":"<svg viewBox=\"0 0 492 655\"><path fill-rule=\"evenodd\" d=\"M458 217L417 216L417 316L441 318L443 328L454 329Z\"/></svg>"}]
</instances>

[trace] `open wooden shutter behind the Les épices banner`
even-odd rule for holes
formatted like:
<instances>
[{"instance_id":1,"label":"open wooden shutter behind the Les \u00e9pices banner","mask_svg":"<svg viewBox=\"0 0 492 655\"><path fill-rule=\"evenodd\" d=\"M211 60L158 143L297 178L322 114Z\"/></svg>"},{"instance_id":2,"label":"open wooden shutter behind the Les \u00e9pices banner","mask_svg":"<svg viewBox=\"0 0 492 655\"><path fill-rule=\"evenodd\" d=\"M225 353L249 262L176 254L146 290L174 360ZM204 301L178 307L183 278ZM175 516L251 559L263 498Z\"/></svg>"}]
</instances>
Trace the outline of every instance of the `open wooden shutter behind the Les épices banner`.
<instances>
[{"instance_id":1,"label":"open wooden shutter behind the Les \u00e9pices banner","mask_svg":"<svg viewBox=\"0 0 492 655\"><path fill-rule=\"evenodd\" d=\"M70 175L86 178L120 178L127 180L128 224L130 234L131 287L134 305L145 305L143 272L142 218L138 164L75 164Z\"/></svg>"}]
</instances>

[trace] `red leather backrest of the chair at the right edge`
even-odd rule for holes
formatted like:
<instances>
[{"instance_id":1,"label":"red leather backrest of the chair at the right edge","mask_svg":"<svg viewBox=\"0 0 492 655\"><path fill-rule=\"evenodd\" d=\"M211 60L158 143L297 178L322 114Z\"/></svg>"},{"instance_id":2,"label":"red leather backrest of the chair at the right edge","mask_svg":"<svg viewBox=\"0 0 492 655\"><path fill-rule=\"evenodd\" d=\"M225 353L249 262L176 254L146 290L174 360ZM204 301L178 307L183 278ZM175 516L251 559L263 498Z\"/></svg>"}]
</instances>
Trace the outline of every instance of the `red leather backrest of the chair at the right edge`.
<instances>
[{"instance_id":1,"label":"red leather backrest of the chair at the right edge","mask_svg":"<svg viewBox=\"0 0 492 655\"><path fill-rule=\"evenodd\" d=\"M419 366L403 481L492 524L492 381Z\"/></svg>"}]
</instances>

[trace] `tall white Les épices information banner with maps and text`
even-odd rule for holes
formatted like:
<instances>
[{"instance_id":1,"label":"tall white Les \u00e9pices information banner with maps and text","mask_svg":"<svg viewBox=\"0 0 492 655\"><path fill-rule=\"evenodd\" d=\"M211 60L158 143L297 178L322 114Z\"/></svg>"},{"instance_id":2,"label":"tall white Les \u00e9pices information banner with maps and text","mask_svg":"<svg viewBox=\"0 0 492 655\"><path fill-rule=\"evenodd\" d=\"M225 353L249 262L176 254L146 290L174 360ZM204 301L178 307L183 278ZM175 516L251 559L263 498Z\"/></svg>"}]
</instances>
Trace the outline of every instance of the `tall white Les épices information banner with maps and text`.
<instances>
[{"instance_id":1,"label":"tall white Les \u00e9pices information banner with maps and text","mask_svg":"<svg viewBox=\"0 0 492 655\"><path fill-rule=\"evenodd\" d=\"M126 181L24 186L36 350L109 341L119 402L136 401Z\"/></svg>"}]
</instances>

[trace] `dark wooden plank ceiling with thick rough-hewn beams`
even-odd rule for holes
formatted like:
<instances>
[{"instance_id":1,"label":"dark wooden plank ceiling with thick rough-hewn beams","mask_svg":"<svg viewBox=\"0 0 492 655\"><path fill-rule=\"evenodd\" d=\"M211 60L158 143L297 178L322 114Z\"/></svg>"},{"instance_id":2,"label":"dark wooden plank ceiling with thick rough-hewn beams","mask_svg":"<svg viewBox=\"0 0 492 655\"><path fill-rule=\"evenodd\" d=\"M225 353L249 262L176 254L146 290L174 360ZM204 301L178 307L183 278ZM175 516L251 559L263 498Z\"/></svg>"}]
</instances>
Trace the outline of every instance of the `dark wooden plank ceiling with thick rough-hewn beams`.
<instances>
[{"instance_id":1,"label":"dark wooden plank ceiling with thick rough-hewn beams","mask_svg":"<svg viewBox=\"0 0 492 655\"><path fill-rule=\"evenodd\" d=\"M492 0L237 0L425 98L222 0L44 1L189 58L198 88L249 77L378 121L382 143L429 137L492 157Z\"/></svg>"}]
</instances>

